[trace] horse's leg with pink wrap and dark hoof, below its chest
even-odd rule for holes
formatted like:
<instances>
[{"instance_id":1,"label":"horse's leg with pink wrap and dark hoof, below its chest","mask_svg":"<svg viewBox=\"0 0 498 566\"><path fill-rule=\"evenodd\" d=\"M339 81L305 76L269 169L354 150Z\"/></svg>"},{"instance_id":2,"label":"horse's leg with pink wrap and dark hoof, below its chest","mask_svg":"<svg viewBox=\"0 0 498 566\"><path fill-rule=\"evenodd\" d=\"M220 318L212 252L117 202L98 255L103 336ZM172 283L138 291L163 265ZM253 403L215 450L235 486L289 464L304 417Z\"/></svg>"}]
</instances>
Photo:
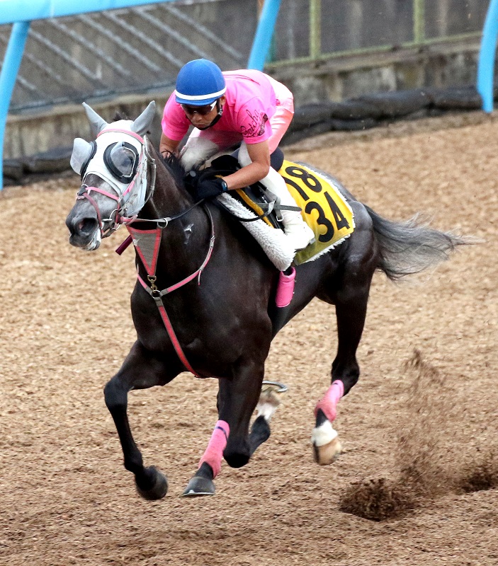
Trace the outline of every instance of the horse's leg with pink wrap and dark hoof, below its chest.
<instances>
[{"instance_id":1,"label":"horse's leg with pink wrap and dark hoof, below its chest","mask_svg":"<svg viewBox=\"0 0 498 566\"><path fill-rule=\"evenodd\" d=\"M219 380L219 420L208 448L200 458L196 475L183 495L214 495L213 480L220 473L222 458L232 468L247 464L256 449L254 446L251 449L249 421L259 400L263 377L264 361L251 361L239 364L232 379Z\"/></svg>"}]
</instances>

